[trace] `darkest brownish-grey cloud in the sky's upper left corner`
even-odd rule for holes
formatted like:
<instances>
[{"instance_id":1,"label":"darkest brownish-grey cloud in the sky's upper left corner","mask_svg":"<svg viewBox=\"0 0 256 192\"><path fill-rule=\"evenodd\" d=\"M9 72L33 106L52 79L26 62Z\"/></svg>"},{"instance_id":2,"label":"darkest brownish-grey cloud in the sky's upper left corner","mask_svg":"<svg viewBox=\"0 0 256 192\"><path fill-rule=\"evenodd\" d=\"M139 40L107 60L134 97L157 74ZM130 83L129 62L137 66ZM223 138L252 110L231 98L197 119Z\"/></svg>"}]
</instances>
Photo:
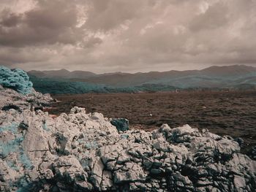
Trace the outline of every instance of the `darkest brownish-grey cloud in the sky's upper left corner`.
<instances>
[{"instance_id":1,"label":"darkest brownish-grey cloud in the sky's upper left corner","mask_svg":"<svg viewBox=\"0 0 256 192\"><path fill-rule=\"evenodd\" d=\"M38 6L15 14L4 9L1 15L0 44L21 47L38 44L73 44L83 38L75 28L75 5L63 1L39 1Z\"/></svg>"}]
</instances>

